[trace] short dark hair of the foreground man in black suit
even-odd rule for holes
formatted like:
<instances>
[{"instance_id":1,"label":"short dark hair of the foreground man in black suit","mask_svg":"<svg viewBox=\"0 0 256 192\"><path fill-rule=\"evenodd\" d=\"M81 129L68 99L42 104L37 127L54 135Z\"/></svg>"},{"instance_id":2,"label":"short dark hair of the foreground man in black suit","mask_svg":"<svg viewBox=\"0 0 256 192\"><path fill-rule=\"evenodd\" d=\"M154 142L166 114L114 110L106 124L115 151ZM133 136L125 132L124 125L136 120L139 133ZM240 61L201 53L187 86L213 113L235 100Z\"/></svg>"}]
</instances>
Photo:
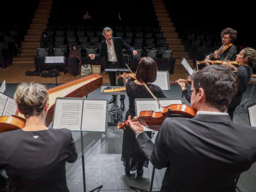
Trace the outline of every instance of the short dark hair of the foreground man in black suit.
<instances>
[{"instance_id":1,"label":"short dark hair of the foreground man in black suit","mask_svg":"<svg viewBox=\"0 0 256 192\"><path fill-rule=\"evenodd\" d=\"M192 76L196 93L202 88L206 104L221 112L225 112L235 93L236 76L227 67L211 65L196 72Z\"/></svg>"}]
</instances>

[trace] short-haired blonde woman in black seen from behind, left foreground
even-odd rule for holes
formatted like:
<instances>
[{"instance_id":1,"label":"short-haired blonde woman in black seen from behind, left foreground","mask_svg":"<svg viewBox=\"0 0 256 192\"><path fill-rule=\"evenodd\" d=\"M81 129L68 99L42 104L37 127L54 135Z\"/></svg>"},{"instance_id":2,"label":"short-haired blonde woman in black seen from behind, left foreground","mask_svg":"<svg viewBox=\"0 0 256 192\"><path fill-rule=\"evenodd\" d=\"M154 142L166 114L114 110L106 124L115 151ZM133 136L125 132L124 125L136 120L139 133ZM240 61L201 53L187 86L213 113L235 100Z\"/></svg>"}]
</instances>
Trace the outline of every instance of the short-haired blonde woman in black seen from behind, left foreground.
<instances>
[{"instance_id":1,"label":"short-haired blonde woman in black seen from behind, left foreground","mask_svg":"<svg viewBox=\"0 0 256 192\"><path fill-rule=\"evenodd\" d=\"M10 192L69 192L65 165L75 162L78 153L70 130L45 126L45 86L20 83L14 99L26 125L0 134L0 165L9 177Z\"/></svg>"}]
</instances>

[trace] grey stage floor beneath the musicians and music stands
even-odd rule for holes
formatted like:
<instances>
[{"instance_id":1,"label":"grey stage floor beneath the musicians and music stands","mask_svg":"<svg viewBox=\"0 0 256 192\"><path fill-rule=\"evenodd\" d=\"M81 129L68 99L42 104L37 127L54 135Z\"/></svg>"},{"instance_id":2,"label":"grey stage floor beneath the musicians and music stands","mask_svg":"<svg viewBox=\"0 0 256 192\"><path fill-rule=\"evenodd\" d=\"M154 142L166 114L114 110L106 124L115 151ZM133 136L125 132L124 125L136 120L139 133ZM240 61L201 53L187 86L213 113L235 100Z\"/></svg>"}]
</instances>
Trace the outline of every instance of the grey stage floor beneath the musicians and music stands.
<instances>
[{"instance_id":1,"label":"grey stage floor beneath the musicians and music stands","mask_svg":"<svg viewBox=\"0 0 256 192\"><path fill-rule=\"evenodd\" d=\"M13 97L15 88L18 84L8 83L6 95ZM54 84L46 85L51 88ZM104 84L109 86L109 84ZM243 100L248 98L252 90L252 84L248 85L246 93L243 94ZM171 86L171 91L164 91L168 98L181 97L181 89L178 85ZM100 89L97 89L88 95L88 98L111 99L111 95L101 95ZM253 92L252 100L256 101L256 94ZM186 101L186 104L189 103ZM250 103L251 104L251 103ZM113 104L109 104L109 109ZM118 99L118 105L120 101ZM128 97L125 99L125 112L128 109ZM109 117L109 122L111 121ZM249 124L246 110L239 107L234 114L234 123ZM82 158L81 158L81 134L72 131L73 138L79 153L78 160L73 164L66 164L67 183L70 192L82 192ZM157 133L156 133L157 134ZM155 140L156 134L152 140ZM84 132L83 147L85 153L85 175L86 191L90 191L99 185L103 185L101 191L119 192L128 191L129 185L149 189L152 174L152 164L144 168L144 174L141 178L137 177L136 172L131 172L129 176L125 175L123 162L121 161L123 131L117 130L114 126L109 126L107 132ZM153 191L161 188L165 169L155 171ZM242 192L256 192L256 164L244 172L238 181L237 186ZM132 190L133 191L133 190Z\"/></svg>"}]
</instances>

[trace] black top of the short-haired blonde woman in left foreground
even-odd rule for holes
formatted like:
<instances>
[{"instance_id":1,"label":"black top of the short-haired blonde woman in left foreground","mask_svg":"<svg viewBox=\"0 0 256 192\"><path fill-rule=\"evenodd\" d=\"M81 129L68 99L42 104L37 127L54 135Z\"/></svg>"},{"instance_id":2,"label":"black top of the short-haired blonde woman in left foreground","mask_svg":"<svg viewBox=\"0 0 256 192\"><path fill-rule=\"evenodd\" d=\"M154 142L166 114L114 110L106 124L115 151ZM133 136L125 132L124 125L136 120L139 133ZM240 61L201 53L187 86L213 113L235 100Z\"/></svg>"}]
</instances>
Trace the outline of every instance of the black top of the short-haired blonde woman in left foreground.
<instances>
[{"instance_id":1,"label":"black top of the short-haired blonde woman in left foreground","mask_svg":"<svg viewBox=\"0 0 256 192\"><path fill-rule=\"evenodd\" d=\"M0 134L0 165L9 176L10 192L69 192L65 164L77 157L68 129Z\"/></svg>"}]
</instances>

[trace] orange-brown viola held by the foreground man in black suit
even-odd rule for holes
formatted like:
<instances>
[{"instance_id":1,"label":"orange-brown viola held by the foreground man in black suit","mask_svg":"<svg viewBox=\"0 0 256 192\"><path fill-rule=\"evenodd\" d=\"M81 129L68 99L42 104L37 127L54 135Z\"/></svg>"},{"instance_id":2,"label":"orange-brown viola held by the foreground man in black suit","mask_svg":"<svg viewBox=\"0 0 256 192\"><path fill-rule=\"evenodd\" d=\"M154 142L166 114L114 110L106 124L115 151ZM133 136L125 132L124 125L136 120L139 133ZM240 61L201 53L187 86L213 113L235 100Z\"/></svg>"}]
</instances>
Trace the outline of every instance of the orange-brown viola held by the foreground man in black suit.
<instances>
[{"instance_id":1,"label":"orange-brown viola held by the foreground man in black suit","mask_svg":"<svg viewBox=\"0 0 256 192\"><path fill-rule=\"evenodd\" d=\"M170 114L178 114L187 118L193 118L196 116L196 110L186 104L171 104L167 107L163 107L161 112L154 112L152 110L142 111L137 119L131 119L130 121L140 121L145 127L154 131L159 131L163 121ZM119 123L117 128L125 129L127 126L129 126L129 123L124 121L123 123Z\"/></svg>"}]
</instances>

